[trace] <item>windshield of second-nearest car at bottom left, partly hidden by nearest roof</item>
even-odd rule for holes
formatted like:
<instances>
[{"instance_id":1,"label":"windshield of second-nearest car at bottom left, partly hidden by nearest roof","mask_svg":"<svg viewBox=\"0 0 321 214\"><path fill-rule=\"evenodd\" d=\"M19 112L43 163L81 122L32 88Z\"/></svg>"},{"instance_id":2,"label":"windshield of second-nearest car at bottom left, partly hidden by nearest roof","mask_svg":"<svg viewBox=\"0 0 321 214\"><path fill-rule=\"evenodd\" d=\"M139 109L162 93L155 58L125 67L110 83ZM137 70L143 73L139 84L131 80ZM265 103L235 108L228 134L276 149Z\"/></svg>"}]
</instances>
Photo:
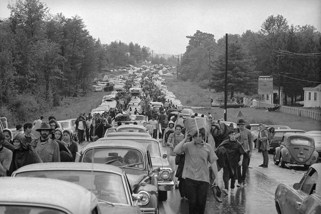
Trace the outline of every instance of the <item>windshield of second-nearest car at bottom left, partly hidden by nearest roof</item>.
<instances>
[{"instance_id":1,"label":"windshield of second-nearest car at bottom left, partly hidden by nearest roof","mask_svg":"<svg viewBox=\"0 0 321 214\"><path fill-rule=\"evenodd\" d=\"M41 177L68 181L90 190L100 200L129 204L121 175L111 172L48 170L22 172L16 174L16 177Z\"/></svg>"}]
</instances>

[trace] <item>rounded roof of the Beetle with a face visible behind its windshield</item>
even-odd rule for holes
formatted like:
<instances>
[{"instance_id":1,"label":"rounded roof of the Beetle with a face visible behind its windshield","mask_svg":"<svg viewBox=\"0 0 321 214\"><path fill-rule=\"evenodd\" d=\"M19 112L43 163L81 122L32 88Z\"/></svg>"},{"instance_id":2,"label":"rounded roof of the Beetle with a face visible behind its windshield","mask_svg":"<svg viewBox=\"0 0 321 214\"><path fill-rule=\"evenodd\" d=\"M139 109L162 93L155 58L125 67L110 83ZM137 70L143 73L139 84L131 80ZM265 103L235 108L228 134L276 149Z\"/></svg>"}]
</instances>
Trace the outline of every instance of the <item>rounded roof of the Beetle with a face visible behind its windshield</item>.
<instances>
[{"instance_id":1,"label":"rounded roof of the Beetle with a face visible behind its windshield","mask_svg":"<svg viewBox=\"0 0 321 214\"><path fill-rule=\"evenodd\" d=\"M85 146L82 151L97 147L129 147L146 152L146 148L142 144L135 141L109 138L99 138L97 141Z\"/></svg>"}]
</instances>

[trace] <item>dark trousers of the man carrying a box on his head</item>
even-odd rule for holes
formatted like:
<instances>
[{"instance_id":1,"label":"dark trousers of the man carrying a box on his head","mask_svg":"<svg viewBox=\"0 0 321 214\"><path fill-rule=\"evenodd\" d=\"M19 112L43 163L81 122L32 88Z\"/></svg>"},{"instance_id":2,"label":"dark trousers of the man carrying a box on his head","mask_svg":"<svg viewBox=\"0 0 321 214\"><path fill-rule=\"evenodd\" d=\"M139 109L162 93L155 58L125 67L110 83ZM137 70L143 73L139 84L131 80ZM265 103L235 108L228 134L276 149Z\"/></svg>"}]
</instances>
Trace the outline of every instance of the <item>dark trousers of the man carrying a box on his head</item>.
<instances>
[{"instance_id":1,"label":"dark trousers of the man carrying a box on his head","mask_svg":"<svg viewBox=\"0 0 321 214\"><path fill-rule=\"evenodd\" d=\"M204 181L195 181L189 178L186 178L185 181L187 187L189 213L204 213L208 186L210 184Z\"/></svg>"}]
</instances>

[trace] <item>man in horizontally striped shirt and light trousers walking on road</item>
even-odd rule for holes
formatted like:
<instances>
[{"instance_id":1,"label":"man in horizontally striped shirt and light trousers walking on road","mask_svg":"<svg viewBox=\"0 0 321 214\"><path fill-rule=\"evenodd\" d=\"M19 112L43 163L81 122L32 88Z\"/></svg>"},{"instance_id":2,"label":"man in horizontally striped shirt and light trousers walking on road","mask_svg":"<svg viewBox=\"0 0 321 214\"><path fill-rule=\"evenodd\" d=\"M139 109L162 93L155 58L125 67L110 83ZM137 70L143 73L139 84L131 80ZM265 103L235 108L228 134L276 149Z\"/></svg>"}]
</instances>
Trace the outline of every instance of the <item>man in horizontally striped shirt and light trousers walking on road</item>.
<instances>
[{"instance_id":1,"label":"man in horizontally striped shirt and light trousers walking on road","mask_svg":"<svg viewBox=\"0 0 321 214\"><path fill-rule=\"evenodd\" d=\"M175 131L174 133L169 134L168 139L167 139L167 146L169 147L169 165L173 170L173 173L175 174L177 165L175 164L175 158L176 154L174 153L174 148L176 145L179 144L184 139L184 135L182 134L182 126L181 125L176 125L175 126ZM176 177L173 178L174 183L175 183L175 188L178 188L178 181Z\"/></svg>"}]
</instances>

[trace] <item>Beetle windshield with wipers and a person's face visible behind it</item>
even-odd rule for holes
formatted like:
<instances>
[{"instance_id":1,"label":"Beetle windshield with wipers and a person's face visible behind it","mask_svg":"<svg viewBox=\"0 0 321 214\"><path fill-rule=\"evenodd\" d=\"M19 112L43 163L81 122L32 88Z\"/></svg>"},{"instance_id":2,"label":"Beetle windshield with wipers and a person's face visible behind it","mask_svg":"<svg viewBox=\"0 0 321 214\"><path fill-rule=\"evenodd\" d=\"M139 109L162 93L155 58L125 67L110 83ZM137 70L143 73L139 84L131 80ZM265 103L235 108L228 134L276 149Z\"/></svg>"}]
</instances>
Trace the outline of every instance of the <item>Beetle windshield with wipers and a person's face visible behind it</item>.
<instances>
[{"instance_id":1,"label":"Beetle windshield with wipers and a person's face visible behind it","mask_svg":"<svg viewBox=\"0 0 321 214\"><path fill-rule=\"evenodd\" d=\"M110 164L118 167L127 167L126 165L137 163L128 167L145 168L142 153L132 148L105 147L90 149L85 152L82 162L91 163L92 161L93 163Z\"/></svg>"}]
</instances>

